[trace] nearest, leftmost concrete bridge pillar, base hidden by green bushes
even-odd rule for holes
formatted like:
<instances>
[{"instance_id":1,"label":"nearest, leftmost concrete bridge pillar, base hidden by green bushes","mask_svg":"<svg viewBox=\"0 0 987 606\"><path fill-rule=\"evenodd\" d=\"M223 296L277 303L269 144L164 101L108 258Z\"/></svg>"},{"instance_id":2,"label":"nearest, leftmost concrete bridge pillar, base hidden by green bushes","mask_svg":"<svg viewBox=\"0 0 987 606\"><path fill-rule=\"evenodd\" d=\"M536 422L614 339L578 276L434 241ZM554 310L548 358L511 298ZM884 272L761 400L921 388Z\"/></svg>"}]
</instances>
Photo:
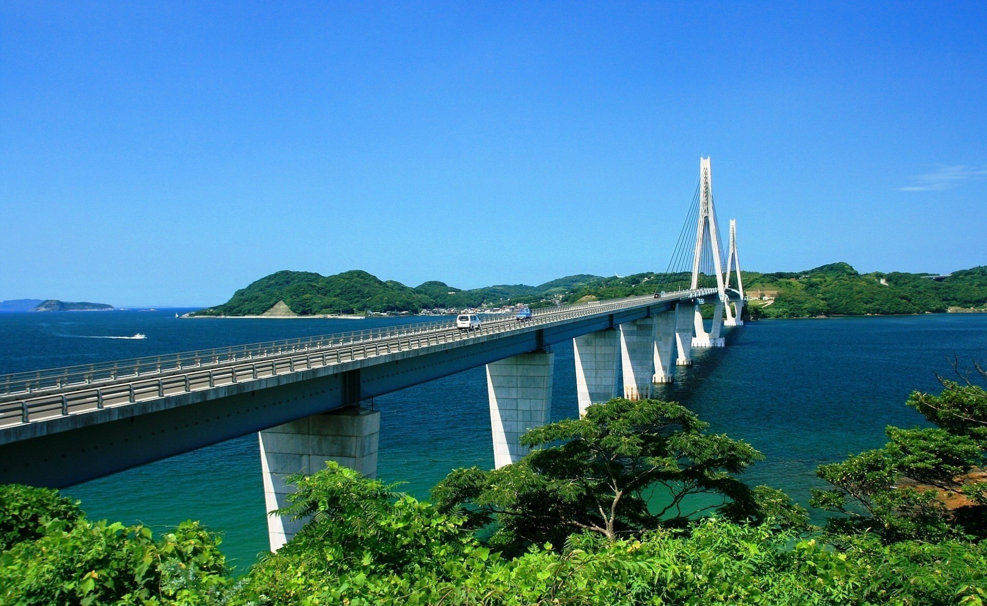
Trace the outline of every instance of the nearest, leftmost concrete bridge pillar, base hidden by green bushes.
<instances>
[{"instance_id":1,"label":"nearest, leftmost concrete bridge pillar, base hidden by green bushes","mask_svg":"<svg viewBox=\"0 0 987 606\"><path fill-rule=\"evenodd\" d=\"M324 469L326 461L336 461L368 478L377 477L379 412L358 406L342 408L285 423L258 436L268 512L288 505L294 487L285 485L287 476L313 474ZM304 524L305 520L268 515L270 551L280 549Z\"/></svg>"}]
</instances>

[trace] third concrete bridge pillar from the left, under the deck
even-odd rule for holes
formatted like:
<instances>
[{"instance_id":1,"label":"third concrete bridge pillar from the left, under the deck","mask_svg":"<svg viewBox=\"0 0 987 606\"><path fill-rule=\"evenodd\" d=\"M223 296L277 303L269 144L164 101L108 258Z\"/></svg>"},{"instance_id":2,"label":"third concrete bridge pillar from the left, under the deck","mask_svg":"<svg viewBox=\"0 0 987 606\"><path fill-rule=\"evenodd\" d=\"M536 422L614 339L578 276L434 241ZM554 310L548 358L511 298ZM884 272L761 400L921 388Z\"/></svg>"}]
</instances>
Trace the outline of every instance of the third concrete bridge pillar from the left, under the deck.
<instances>
[{"instance_id":1,"label":"third concrete bridge pillar from the left, under the deck","mask_svg":"<svg viewBox=\"0 0 987 606\"><path fill-rule=\"evenodd\" d=\"M607 402L617 395L619 342L620 336L613 328L572 339L580 417L590 404Z\"/></svg>"}]
</instances>

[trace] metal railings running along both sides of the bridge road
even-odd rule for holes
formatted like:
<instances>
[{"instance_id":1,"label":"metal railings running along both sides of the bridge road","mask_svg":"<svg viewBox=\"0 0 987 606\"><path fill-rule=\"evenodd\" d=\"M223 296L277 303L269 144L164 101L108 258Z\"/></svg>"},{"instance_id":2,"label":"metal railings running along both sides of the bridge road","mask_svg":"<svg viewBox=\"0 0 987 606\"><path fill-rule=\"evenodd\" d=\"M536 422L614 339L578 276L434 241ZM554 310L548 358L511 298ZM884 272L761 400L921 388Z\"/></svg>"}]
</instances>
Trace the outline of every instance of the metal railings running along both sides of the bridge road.
<instances>
[{"instance_id":1,"label":"metal railings running along both sides of the bridge road","mask_svg":"<svg viewBox=\"0 0 987 606\"><path fill-rule=\"evenodd\" d=\"M706 294L706 290L694 293L697 297ZM681 295L669 294L669 297ZM531 322L547 323L650 300L653 297L632 297L541 308L534 310ZM133 403L148 396L163 397L245 378L261 378L284 371L307 370L404 349L418 349L513 330L518 325L513 314L499 314L488 318L480 329L470 331L457 330L455 321L450 320L417 322L170 356L8 374L0 376L0 384L6 390L0 392L0 427L11 422L27 423L47 416ZM528 326L530 323L520 325ZM150 375L154 378L144 379ZM20 389L14 391L17 387Z\"/></svg>"}]
</instances>

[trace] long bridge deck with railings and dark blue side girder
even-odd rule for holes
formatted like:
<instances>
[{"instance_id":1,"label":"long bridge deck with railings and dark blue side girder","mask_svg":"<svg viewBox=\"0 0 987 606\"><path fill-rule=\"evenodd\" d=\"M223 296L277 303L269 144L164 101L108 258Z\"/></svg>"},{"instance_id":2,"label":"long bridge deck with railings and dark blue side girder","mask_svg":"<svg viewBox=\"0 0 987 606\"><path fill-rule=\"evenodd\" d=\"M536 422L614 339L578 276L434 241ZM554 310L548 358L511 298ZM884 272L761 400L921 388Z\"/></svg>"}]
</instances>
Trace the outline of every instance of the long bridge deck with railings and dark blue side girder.
<instances>
[{"instance_id":1,"label":"long bridge deck with railings and dark blue side girder","mask_svg":"<svg viewBox=\"0 0 987 606\"><path fill-rule=\"evenodd\" d=\"M61 488L716 296L716 289L0 376L0 483Z\"/></svg>"}]
</instances>

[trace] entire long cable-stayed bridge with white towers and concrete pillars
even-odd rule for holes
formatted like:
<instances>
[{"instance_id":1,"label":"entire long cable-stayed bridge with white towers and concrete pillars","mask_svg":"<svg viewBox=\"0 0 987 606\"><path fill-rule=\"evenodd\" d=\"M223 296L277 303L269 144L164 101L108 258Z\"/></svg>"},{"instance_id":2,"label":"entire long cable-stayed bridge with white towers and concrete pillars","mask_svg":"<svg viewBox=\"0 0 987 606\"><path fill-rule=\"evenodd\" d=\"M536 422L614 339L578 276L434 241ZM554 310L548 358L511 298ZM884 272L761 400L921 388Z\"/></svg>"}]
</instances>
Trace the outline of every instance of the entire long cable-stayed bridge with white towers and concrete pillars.
<instances>
[{"instance_id":1,"label":"entire long cable-stayed bridge with white towers and concrete pillars","mask_svg":"<svg viewBox=\"0 0 987 606\"><path fill-rule=\"evenodd\" d=\"M722 326L743 324L736 227L723 249L712 191L701 159L653 295L494 315L472 330L422 322L0 376L0 483L61 488L258 433L271 510L286 503L287 475L327 460L376 475L380 412L362 402L484 365L494 464L507 465L526 453L518 439L549 420L554 345L573 344L582 414L616 395L650 397L692 364L693 348L722 347ZM714 303L709 329L704 303ZM268 517L271 550L300 525Z\"/></svg>"}]
</instances>

